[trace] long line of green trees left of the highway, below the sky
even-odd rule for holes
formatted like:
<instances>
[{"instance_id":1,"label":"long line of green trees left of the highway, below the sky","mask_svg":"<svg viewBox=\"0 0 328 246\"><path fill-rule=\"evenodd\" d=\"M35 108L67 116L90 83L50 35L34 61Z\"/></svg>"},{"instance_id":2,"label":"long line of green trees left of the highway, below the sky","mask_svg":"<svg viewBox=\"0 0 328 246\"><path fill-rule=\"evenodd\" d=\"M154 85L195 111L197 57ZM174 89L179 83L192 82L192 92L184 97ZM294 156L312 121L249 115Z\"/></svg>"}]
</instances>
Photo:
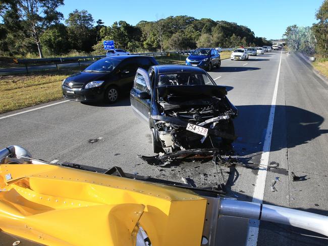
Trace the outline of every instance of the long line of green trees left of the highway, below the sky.
<instances>
[{"instance_id":1,"label":"long line of green trees left of the highway, below the sky","mask_svg":"<svg viewBox=\"0 0 328 246\"><path fill-rule=\"evenodd\" d=\"M103 40L130 52L194 49L197 47L263 46L246 26L227 21L169 16L156 21L126 21L105 26L86 10L74 10L64 20L58 7L64 0L2 0L0 2L0 55L39 57L78 51L103 54Z\"/></svg>"}]
</instances>

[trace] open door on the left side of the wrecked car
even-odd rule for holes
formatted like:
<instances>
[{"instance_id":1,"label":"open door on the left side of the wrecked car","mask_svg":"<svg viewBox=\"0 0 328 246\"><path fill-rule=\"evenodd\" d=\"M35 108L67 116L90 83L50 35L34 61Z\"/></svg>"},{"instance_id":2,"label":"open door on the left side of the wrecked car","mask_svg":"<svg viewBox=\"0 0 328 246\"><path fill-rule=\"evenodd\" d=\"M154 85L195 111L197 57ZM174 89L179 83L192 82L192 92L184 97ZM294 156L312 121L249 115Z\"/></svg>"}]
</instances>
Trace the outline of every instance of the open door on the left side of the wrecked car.
<instances>
[{"instance_id":1,"label":"open door on the left side of the wrecked car","mask_svg":"<svg viewBox=\"0 0 328 246\"><path fill-rule=\"evenodd\" d=\"M151 103L150 78L146 70L139 68L130 91L130 102L134 113L142 120L149 120Z\"/></svg>"}]
</instances>

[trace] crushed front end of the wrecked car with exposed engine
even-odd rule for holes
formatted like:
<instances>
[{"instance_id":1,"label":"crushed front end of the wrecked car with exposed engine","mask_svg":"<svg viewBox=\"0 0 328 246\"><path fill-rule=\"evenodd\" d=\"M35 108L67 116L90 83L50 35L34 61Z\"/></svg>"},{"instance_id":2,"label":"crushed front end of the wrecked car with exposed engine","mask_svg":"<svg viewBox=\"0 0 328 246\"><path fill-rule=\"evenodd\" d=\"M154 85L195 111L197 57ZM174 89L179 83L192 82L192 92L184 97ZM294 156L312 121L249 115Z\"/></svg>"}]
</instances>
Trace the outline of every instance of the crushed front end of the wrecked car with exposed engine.
<instances>
[{"instance_id":1,"label":"crushed front end of the wrecked car with exposed engine","mask_svg":"<svg viewBox=\"0 0 328 246\"><path fill-rule=\"evenodd\" d=\"M164 88L158 91L159 114L163 116L163 119L168 120L158 120L155 125L158 138L166 153L199 148L200 145L214 147L216 142L214 137L233 141L234 128L231 118L237 113L231 107L225 97L226 92L224 93L222 88L209 90L210 87L202 86L198 88L198 91L192 91L193 93L190 93L190 90L181 93L183 88L179 88L179 91L175 91L175 88ZM201 127L197 130L205 131L206 134L201 132L197 134L188 130L187 127L190 128L188 123L194 128Z\"/></svg>"}]
</instances>

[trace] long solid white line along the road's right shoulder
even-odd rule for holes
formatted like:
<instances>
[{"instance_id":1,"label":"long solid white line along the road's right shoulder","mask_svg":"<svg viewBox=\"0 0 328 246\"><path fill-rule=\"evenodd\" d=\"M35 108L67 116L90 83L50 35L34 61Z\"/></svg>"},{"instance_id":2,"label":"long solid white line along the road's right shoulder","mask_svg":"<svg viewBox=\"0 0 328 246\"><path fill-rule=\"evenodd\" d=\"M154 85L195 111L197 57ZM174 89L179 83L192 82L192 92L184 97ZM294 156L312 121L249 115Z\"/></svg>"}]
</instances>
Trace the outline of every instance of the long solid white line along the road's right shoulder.
<instances>
[{"instance_id":1,"label":"long solid white line along the road's right shoulder","mask_svg":"<svg viewBox=\"0 0 328 246\"><path fill-rule=\"evenodd\" d=\"M283 51L280 53L280 61L279 61L277 78L276 78L276 85L275 85L274 95L272 96L269 119L267 121L266 134L265 134L263 150L262 150L263 152L262 152L261 161L260 161L260 168L258 170L258 173L256 176L256 181L255 181L255 188L254 188L254 193L253 193L253 202L255 202L255 203L263 202L267 165L269 162L272 130L274 128L275 109L276 109L282 54L283 54ZM257 245L259 225L260 225L259 220L253 220L253 219L249 220L248 235L247 235L247 242L246 242L247 246L256 246Z\"/></svg>"}]
</instances>

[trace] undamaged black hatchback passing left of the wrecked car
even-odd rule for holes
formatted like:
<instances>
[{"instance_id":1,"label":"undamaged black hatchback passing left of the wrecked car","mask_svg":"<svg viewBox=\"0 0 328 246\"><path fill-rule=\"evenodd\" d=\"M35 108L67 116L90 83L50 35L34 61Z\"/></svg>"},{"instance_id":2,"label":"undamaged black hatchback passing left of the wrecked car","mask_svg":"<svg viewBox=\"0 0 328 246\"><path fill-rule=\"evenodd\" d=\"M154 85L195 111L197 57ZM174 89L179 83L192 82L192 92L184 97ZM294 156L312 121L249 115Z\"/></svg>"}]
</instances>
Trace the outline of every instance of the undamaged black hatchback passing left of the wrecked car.
<instances>
[{"instance_id":1,"label":"undamaged black hatchback passing left of the wrecked car","mask_svg":"<svg viewBox=\"0 0 328 246\"><path fill-rule=\"evenodd\" d=\"M154 57L119 55L95 61L82 72L63 81L65 99L73 101L99 101L114 103L121 93L130 91L138 68L158 65Z\"/></svg>"}]
</instances>

